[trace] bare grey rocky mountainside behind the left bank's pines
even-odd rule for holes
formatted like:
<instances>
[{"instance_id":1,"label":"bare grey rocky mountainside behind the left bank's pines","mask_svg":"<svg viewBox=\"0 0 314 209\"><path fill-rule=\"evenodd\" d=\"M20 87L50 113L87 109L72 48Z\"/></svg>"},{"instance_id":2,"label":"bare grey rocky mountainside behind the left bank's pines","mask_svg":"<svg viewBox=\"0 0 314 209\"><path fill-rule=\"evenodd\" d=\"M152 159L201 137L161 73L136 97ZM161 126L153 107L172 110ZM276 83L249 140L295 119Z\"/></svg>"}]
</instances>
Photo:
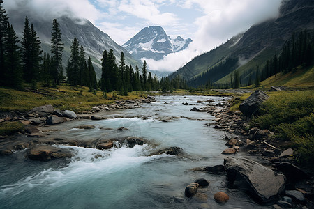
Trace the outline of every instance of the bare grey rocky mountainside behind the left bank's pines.
<instances>
[{"instance_id":1,"label":"bare grey rocky mountainside behind the left bank's pines","mask_svg":"<svg viewBox=\"0 0 314 209\"><path fill-rule=\"evenodd\" d=\"M14 15L13 15L14 14ZM42 42L42 48L44 52L50 53L50 38L52 30L52 20L40 20L38 17L32 17L31 14L20 13L19 11L10 11L8 13L9 21L13 24L17 36L22 37L24 30L24 19L27 15L29 22L33 23L34 29L37 32L40 41ZM114 40L110 38L106 33L100 31L89 20L77 20L69 17L60 17L57 19L60 24L63 42L63 68L67 65L67 60L70 57L70 45L72 45L73 39L76 37L79 40L80 45L83 45L85 55L87 59L91 56L91 60L94 64L96 77L101 77L101 56L104 50L109 52L110 49L114 50L117 63L119 62L121 52L124 52L127 65L138 65L142 67L140 61L135 60L124 47L118 45ZM63 69L63 72L65 70Z\"/></svg>"}]
</instances>

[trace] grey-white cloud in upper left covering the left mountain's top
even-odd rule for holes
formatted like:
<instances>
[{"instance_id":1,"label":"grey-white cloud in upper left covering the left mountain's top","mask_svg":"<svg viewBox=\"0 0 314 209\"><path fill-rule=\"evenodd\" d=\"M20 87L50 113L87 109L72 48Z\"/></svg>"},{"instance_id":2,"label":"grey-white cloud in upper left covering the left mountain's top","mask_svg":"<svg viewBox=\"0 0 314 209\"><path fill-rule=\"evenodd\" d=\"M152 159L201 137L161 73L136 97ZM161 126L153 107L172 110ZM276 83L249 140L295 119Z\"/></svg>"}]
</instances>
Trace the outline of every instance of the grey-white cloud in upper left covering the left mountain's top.
<instances>
[{"instance_id":1,"label":"grey-white cloud in upper left covering the left mountain's top","mask_svg":"<svg viewBox=\"0 0 314 209\"><path fill-rule=\"evenodd\" d=\"M3 7L8 13L10 10L23 11L49 20L67 15L87 19L94 23L101 16L100 11L89 0L7 0L4 1Z\"/></svg>"}]
</instances>

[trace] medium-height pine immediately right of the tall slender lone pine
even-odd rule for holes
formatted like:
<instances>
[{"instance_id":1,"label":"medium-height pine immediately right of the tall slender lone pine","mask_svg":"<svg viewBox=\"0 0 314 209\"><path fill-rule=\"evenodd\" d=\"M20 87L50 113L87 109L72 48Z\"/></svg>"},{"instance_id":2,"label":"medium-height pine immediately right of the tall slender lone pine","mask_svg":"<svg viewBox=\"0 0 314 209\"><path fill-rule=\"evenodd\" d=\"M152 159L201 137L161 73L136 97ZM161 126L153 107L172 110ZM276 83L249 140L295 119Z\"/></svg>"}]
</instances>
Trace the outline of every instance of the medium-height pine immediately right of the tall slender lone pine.
<instances>
[{"instance_id":1,"label":"medium-height pine immediately right of the tall slender lone pine","mask_svg":"<svg viewBox=\"0 0 314 209\"><path fill-rule=\"evenodd\" d=\"M79 52L80 43L77 38L74 38L71 49L71 55L68 62L67 75L68 83L70 85L76 86L79 84L79 70L80 70L80 52Z\"/></svg>"}]
</instances>

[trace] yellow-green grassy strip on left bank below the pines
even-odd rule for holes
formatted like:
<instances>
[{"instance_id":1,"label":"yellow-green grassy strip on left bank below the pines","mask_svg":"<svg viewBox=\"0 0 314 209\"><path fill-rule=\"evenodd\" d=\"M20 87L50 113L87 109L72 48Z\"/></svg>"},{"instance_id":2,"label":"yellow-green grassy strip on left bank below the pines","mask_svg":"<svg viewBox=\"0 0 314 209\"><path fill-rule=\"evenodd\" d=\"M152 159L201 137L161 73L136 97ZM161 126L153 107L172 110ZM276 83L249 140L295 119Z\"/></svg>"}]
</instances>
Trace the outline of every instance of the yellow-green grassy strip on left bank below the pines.
<instances>
[{"instance_id":1,"label":"yellow-green grassy strip on left bank below the pines","mask_svg":"<svg viewBox=\"0 0 314 209\"><path fill-rule=\"evenodd\" d=\"M55 109L86 111L96 105L110 104L115 100L135 100L145 98L146 93L131 92L127 96L113 91L89 91L87 87L61 84L58 88L39 88L38 91L17 91L0 88L0 111L29 111L33 107L52 104Z\"/></svg>"}]
</instances>

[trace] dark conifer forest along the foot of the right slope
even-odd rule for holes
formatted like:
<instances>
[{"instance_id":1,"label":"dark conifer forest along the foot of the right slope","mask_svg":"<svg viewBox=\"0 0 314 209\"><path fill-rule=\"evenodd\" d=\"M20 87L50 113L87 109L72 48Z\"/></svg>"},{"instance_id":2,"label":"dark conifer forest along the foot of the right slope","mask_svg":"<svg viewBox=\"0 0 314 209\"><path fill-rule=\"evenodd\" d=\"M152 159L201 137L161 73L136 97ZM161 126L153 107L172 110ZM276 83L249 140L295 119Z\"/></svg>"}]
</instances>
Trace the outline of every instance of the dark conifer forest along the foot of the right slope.
<instances>
[{"instance_id":1,"label":"dark conifer forest along the foot of the right slope","mask_svg":"<svg viewBox=\"0 0 314 209\"><path fill-rule=\"evenodd\" d=\"M237 58L232 56L225 59L193 79L188 84L197 88L240 88L241 86L260 86L260 82L276 75L277 73L287 73L296 70L299 65L308 67L313 65L314 61L314 33L308 32L307 29L301 31L298 35L292 33L292 37L287 40L279 54L274 54L268 59L262 68L257 65L250 68L239 76L237 68ZM232 72L234 71L234 72ZM232 72L232 73L230 73ZM217 84L217 75L229 74L230 82L227 84Z\"/></svg>"}]
</instances>

